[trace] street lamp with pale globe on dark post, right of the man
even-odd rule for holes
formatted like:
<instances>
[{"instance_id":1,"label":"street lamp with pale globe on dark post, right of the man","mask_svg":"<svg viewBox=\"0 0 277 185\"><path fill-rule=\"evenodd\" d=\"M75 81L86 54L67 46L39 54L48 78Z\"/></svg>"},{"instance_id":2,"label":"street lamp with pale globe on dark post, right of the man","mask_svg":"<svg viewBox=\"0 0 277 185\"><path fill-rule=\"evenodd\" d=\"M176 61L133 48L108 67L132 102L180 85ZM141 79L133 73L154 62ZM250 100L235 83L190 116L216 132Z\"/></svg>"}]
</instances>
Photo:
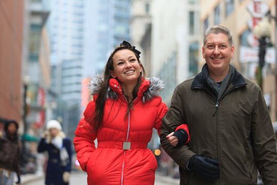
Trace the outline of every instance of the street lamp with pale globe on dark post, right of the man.
<instances>
[{"instance_id":1,"label":"street lamp with pale globe on dark post, right of the man","mask_svg":"<svg viewBox=\"0 0 277 185\"><path fill-rule=\"evenodd\" d=\"M254 27L254 35L259 41L259 66L257 73L258 85L263 88L263 67L265 64L266 47L268 45L266 39L270 36L270 23L269 18L264 17L262 21Z\"/></svg>"}]
</instances>

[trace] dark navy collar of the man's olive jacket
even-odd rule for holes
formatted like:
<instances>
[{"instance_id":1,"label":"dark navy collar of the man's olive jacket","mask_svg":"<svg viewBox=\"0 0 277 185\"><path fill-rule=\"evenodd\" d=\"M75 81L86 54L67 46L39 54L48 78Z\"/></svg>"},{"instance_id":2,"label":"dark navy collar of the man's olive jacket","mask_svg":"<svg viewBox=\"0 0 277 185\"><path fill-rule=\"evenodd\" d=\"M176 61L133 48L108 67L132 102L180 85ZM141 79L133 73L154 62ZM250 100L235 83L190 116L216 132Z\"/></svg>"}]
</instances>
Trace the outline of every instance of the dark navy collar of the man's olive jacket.
<instances>
[{"instance_id":1,"label":"dark navy collar of the man's olive jacket","mask_svg":"<svg viewBox=\"0 0 277 185\"><path fill-rule=\"evenodd\" d=\"M206 83L204 82L204 78L203 78L203 68L207 65L207 63L204 64L204 66L202 67L202 71L200 73L198 73L192 84L191 84L191 89L195 89L195 88L208 88ZM234 78L232 80L232 86L233 88L238 88L241 87L242 85L246 85L247 83L244 80L244 77L241 75L240 72L238 72L235 68L234 68Z\"/></svg>"}]
</instances>

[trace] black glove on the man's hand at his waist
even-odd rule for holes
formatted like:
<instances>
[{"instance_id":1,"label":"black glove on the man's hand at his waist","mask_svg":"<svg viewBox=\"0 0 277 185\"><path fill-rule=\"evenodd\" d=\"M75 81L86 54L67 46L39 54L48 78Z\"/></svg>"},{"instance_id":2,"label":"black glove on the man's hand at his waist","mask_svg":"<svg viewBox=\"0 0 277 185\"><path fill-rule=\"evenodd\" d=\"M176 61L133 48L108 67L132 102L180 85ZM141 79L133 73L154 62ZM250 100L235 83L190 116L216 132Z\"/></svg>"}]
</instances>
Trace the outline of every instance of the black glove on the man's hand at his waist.
<instances>
[{"instance_id":1,"label":"black glove on the man's hand at his waist","mask_svg":"<svg viewBox=\"0 0 277 185\"><path fill-rule=\"evenodd\" d=\"M209 157L192 156L188 162L188 169L209 181L214 181L220 176L219 161Z\"/></svg>"}]
</instances>

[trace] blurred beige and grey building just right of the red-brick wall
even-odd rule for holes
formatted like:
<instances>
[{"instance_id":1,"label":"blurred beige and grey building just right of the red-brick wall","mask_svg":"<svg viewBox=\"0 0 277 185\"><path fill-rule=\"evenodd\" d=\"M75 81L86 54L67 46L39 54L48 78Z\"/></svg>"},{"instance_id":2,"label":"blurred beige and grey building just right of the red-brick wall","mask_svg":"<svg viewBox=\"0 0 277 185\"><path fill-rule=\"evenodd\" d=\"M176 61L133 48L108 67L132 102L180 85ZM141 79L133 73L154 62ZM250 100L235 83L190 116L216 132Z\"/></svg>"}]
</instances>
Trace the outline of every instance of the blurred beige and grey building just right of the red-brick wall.
<instances>
[{"instance_id":1,"label":"blurred beige and grey building just right of the red-brick wall","mask_svg":"<svg viewBox=\"0 0 277 185\"><path fill-rule=\"evenodd\" d=\"M27 1L25 24L28 25L27 62L24 66L24 78L27 79L27 99L29 110L26 117L25 134L38 135L38 130L43 128L47 108L51 108L48 102L48 92L51 85L50 45L45 22L49 11L45 9L41 1Z\"/></svg>"}]
</instances>

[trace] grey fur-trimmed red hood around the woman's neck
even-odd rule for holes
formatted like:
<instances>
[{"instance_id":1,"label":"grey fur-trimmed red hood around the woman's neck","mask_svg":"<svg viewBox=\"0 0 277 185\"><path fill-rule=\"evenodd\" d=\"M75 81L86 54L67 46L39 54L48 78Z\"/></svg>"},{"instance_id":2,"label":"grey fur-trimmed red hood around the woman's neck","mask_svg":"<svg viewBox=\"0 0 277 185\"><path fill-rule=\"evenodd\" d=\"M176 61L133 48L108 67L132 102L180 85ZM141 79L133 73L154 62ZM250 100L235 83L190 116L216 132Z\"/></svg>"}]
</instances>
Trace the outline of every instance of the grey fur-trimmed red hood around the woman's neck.
<instances>
[{"instance_id":1,"label":"grey fur-trimmed red hood around the woman's neck","mask_svg":"<svg viewBox=\"0 0 277 185\"><path fill-rule=\"evenodd\" d=\"M103 83L102 78L93 78L89 83L89 90L92 96L97 94L97 90ZM143 103L152 100L154 97L159 96L160 91L165 88L163 81L157 77L145 78L140 89L138 90L138 97L142 97ZM141 93L141 95L140 95ZM110 79L109 87L107 89L106 98L117 99L118 94L122 94L122 87L116 79Z\"/></svg>"}]
</instances>

